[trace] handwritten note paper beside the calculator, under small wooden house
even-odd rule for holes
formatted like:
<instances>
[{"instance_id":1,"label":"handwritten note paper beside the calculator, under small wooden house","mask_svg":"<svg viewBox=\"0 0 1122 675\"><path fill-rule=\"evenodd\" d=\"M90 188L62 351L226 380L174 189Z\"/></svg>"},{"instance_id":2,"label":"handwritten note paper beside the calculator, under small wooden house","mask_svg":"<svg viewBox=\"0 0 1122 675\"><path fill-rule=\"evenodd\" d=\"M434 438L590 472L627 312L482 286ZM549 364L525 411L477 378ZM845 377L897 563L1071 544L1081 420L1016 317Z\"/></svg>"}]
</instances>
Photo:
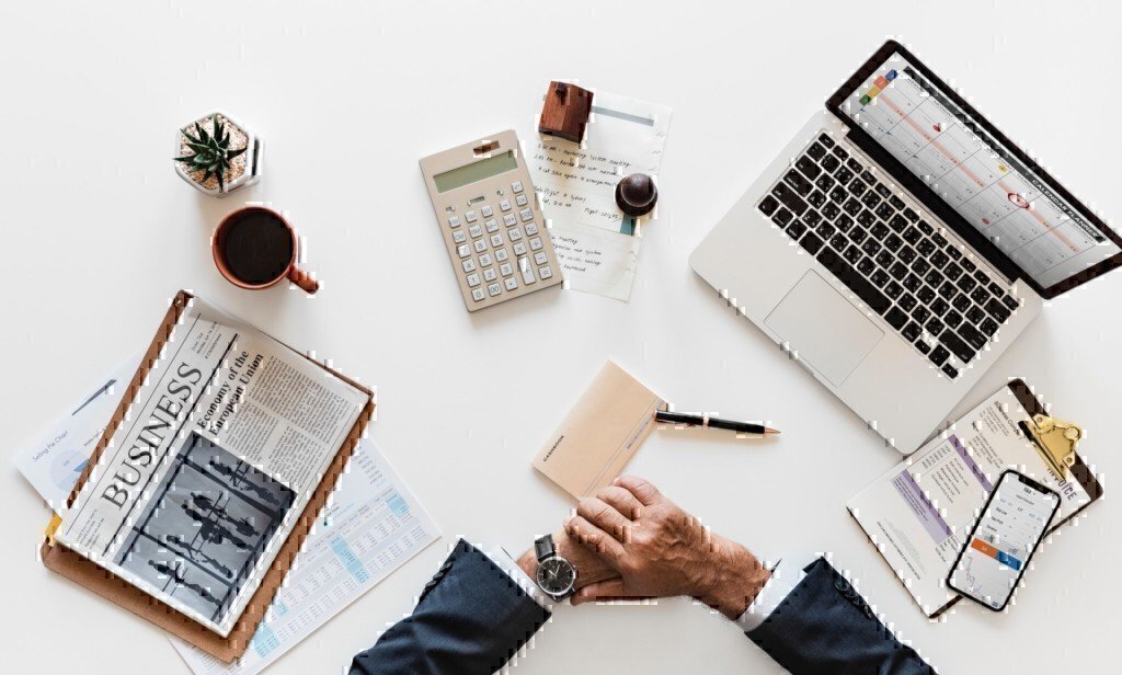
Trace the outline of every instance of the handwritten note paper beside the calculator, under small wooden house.
<instances>
[{"instance_id":1,"label":"handwritten note paper beside the calculator, under small wooden house","mask_svg":"<svg viewBox=\"0 0 1122 675\"><path fill-rule=\"evenodd\" d=\"M542 211L565 287L626 302L638 266L642 224L615 202L616 184L631 174L657 176L671 110L596 92L581 146L533 133L530 155ZM653 215L654 212L651 213Z\"/></svg>"}]
</instances>

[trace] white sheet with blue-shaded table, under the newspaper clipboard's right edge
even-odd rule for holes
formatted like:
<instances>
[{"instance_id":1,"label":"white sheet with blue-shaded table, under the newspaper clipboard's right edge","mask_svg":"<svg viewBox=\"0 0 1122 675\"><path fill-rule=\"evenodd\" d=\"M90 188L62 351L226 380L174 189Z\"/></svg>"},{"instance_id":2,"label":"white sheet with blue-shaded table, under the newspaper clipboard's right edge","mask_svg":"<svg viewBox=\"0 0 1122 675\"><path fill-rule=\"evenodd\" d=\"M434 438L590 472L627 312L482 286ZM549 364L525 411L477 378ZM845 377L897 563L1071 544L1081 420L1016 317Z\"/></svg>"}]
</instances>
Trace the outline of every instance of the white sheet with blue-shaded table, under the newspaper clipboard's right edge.
<instances>
[{"instance_id":1,"label":"white sheet with blue-shaded table, under the newspaper clipboard's right edge","mask_svg":"<svg viewBox=\"0 0 1122 675\"><path fill-rule=\"evenodd\" d=\"M440 538L374 442L362 441L249 649L224 664L169 637L195 675L254 675Z\"/></svg>"}]
</instances>

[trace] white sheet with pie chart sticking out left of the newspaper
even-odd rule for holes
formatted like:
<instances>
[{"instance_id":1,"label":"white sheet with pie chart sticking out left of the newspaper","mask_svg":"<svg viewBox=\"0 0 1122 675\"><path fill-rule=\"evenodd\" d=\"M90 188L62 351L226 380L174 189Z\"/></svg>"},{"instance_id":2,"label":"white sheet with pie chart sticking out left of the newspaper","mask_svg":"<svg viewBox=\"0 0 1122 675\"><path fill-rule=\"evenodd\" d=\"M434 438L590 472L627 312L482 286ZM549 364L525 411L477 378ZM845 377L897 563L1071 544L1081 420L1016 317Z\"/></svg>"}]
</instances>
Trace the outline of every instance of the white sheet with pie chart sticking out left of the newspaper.
<instances>
[{"instance_id":1,"label":"white sheet with pie chart sticking out left of the newspaper","mask_svg":"<svg viewBox=\"0 0 1122 675\"><path fill-rule=\"evenodd\" d=\"M56 514L66 508L74 483L85 469L102 432L132 381L136 354L113 370L89 396L71 406L34 444L16 455L16 466Z\"/></svg>"}]
</instances>

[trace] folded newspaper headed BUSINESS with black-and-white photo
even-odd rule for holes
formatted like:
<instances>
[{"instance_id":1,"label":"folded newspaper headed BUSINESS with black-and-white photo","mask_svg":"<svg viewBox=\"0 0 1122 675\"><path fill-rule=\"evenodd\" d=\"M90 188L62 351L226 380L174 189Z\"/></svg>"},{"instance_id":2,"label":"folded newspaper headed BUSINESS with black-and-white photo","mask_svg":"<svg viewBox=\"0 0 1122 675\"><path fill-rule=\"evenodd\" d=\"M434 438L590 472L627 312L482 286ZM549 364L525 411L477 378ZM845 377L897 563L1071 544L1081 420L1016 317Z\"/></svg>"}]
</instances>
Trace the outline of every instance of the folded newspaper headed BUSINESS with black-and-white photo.
<instances>
[{"instance_id":1,"label":"folded newspaper headed BUSINESS with black-and-white photo","mask_svg":"<svg viewBox=\"0 0 1122 675\"><path fill-rule=\"evenodd\" d=\"M227 637L367 401L194 298L55 538Z\"/></svg>"}]
</instances>

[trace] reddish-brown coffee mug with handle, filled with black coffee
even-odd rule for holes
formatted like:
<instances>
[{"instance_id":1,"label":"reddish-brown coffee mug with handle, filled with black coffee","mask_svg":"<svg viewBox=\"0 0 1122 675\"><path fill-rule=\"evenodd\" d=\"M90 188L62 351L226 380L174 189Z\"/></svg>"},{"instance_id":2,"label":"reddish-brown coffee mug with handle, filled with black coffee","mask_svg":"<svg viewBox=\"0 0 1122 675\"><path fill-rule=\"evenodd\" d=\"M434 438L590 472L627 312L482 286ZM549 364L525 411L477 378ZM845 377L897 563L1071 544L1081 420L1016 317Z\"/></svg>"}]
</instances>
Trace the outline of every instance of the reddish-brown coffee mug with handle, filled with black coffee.
<instances>
[{"instance_id":1,"label":"reddish-brown coffee mug with handle, filled with black coffee","mask_svg":"<svg viewBox=\"0 0 1122 675\"><path fill-rule=\"evenodd\" d=\"M218 270L239 288L260 290L288 279L310 294L320 289L320 283L296 266L300 238L295 228L273 209L243 206L228 214L214 229L211 251ZM256 278L243 278L250 269Z\"/></svg>"}]
</instances>

